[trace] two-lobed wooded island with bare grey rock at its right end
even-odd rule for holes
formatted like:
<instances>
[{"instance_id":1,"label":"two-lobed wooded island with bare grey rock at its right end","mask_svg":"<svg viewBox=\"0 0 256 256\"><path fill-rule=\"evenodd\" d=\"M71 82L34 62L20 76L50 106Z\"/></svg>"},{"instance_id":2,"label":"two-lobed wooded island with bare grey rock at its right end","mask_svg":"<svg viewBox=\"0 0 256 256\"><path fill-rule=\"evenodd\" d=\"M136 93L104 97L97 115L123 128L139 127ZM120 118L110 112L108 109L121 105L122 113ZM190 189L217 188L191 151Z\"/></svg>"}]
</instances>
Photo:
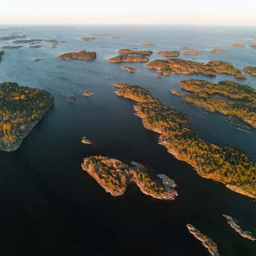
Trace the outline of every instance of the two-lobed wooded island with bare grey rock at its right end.
<instances>
[{"instance_id":1,"label":"two-lobed wooded island with bare grey rock at its right end","mask_svg":"<svg viewBox=\"0 0 256 256\"><path fill-rule=\"evenodd\" d=\"M131 162L132 166L117 159L104 156L84 158L83 170L112 196L124 195L127 185L135 183L145 195L162 200L173 200L177 196L175 183L166 175L157 175L154 179L142 164Z\"/></svg>"}]
</instances>

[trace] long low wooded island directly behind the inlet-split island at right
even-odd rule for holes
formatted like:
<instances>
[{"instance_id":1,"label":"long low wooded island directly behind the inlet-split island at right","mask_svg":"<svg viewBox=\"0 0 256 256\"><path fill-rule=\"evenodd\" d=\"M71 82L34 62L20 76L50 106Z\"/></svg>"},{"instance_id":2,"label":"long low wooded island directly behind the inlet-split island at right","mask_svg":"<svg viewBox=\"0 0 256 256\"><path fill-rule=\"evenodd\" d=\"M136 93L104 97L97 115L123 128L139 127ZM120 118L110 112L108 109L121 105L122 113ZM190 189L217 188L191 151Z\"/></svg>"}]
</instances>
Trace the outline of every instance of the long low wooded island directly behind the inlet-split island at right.
<instances>
[{"instance_id":1,"label":"long low wooded island directly behind the inlet-split island at right","mask_svg":"<svg viewBox=\"0 0 256 256\"><path fill-rule=\"evenodd\" d=\"M147 68L156 69L163 76L172 74L202 74L215 77L217 74L228 74L237 79L246 79L238 68L224 61L209 61L208 63L183 59L154 60L148 63Z\"/></svg>"}]
</instances>

